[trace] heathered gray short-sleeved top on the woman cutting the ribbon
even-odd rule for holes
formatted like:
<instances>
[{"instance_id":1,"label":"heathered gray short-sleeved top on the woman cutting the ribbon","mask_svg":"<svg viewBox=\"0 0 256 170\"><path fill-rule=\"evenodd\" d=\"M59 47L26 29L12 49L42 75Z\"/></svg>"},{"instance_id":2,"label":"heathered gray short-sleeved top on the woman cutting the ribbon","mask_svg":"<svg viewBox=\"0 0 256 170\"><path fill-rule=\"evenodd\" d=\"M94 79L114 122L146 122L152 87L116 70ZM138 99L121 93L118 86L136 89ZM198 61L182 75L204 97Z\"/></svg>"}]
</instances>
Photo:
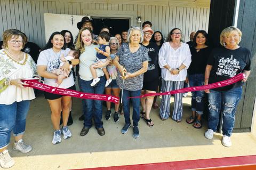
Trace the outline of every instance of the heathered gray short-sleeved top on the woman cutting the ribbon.
<instances>
[{"instance_id":1,"label":"heathered gray short-sleeved top on the woman cutting the ribbon","mask_svg":"<svg viewBox=\"0 0 256 170\"><path fill-rule=\"evenodd\" d=\"M129 49L128 43L122 43L121 47L117 52L117 56L119 56L119 63L124 66L127 72L133 73L142 68L142 62L149 61L147 48L145 46L140 45L139 49L131 53ZM118 71L118 76L116 78L117 84L120 88L123 85L123 79L121 77L120 72ZM128 78L124 80L124 89L129 91L137 91L141 90L143 86L143 74Z\"/></svg>"}]
</instances>

